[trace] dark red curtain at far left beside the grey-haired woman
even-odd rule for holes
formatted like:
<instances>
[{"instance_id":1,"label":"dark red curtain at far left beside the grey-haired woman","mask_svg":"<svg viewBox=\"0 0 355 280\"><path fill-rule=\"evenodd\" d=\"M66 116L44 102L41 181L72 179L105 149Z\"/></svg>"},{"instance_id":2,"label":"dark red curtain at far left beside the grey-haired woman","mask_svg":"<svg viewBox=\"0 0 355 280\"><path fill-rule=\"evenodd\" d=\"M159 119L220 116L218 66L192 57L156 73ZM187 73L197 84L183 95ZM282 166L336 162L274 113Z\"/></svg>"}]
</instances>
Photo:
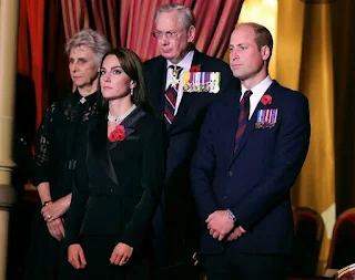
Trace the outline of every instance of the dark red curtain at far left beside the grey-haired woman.
<instances>
[{"instance_id":1,"label":"dark red curtain at far left beside the grey-haired woman","mask_svg":"<svg viewBox=\"0 0 355 280\"><path fill-rule=\"evenodd\" d=\"M20 0L19 15L18 74L27 76L34 85L38 126L49 102L62 95L70 80L63 52L61 6L58 1ZM17 102L22 97L28 100L19 95Z\"/></svg>"}]
</instances>

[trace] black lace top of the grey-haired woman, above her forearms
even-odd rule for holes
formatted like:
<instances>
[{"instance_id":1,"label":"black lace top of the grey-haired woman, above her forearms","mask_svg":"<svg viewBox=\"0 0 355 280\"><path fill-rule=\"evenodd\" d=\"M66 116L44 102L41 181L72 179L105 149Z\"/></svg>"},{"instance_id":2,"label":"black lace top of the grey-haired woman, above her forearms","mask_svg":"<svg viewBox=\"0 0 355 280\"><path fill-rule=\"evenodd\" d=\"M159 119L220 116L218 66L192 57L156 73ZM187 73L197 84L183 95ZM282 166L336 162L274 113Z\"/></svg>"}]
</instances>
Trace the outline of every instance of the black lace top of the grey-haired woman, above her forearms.
<instances>
[{"instance_id":1,"label":"black lace top of the grey-haired woman, above her forearms","mask_svg":"<svg viewBox=\"0 0 355 280\"><path fill-rule=\"evenodd\" d=\"M82 98L75 92L47 110L36 136L32 183L49 182L52 199L71 193L78 160L85 158L89 121L97 115L97 93Z\"/></svg>"}]
</instances>

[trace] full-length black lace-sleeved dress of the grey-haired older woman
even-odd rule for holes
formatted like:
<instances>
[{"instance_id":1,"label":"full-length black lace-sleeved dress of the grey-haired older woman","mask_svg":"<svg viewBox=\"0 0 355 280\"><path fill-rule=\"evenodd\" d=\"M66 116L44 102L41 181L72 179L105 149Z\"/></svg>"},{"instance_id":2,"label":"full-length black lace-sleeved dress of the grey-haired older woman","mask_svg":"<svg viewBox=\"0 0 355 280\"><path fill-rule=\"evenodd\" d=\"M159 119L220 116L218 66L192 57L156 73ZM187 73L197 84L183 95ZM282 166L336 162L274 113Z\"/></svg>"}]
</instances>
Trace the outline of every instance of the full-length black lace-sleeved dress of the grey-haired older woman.
<instances>
[{"instance_id":1,"label":"full-length black lace-sleeved dress of the grey-haired older woman","mask_svg":"<svg viewBox=\"0 0 355 280\"><path fill-rule=\"evenodd\" d=\"M75 166L83 160L89 121L98 114L97 93L83 98L79 92L54 102L45 112L36 138L32 183L50 183L52 200L72 193ZM59 266L68 263L67 256L48 231L38 205L33 218L31 245L26 279L55 280ZM65 222L65 215L62 217Z\"/></svg>"}]
</instances>

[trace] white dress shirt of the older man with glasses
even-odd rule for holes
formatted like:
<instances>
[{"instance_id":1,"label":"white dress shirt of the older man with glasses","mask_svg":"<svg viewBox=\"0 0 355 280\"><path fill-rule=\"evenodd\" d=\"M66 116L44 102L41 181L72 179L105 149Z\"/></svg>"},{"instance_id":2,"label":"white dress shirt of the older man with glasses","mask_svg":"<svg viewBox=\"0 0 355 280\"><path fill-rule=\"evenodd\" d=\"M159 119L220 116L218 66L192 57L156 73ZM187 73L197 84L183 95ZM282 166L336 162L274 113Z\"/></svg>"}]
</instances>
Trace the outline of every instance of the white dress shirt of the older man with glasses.
<instances>
[{"instance_id":1,"label":"white dress shirt of the older man with glasses","mask_svg":"<svg viewBox=\"0 0 355 280\"><path fill-rule=\"evenodd\" d=\"M190 69L191 69L191 65L192 65L192 60L193 60L193 54L194 54L194 51L190 51L187 52L187 54L185 55L185 58L183 58L178 64L173 64L171 63L169 60L168 60L168 63L166 63L166 68L168 68L168 72L166 72L166 84L165 84L165 91L168 90L170 83L171 83L171 80L173 77L173 70L170 69L169 66L170 65L178 65L178 66L181 66L182 68L182 71L180 73L180 76L179 76L179 90L178 90L178 96L176 96L176 104L175 104L175 113L174 115L176 115L178 113L178 108L179 108L179 105L181 103L181 100L182 100L182 95L183 95L183 91L182 91L182 74L184 72L189 72Z\"/></svg>"}]
</instances>

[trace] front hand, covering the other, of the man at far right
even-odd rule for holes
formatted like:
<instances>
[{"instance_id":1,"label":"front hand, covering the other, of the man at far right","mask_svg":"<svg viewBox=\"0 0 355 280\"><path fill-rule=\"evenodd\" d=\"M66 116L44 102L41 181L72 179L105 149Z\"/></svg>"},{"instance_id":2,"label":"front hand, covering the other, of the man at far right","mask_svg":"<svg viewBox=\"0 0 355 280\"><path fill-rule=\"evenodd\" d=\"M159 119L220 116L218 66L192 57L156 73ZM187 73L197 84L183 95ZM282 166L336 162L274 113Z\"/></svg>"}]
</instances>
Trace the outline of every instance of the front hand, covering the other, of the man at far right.
<instances>
[{"instance_id":1,"label":"front hand, covering the other, of the man at far right","mask_svg":"<svg viewBox=\"0 0 355 280\"><path fill-rule=\"evenodd\" d=\"M214 239L219 238L219 241L222 241L234 227L234 221L229 217L227 210L212 212L205 222L207 222L210 235Z\"/></svg>"}]
</instances>

